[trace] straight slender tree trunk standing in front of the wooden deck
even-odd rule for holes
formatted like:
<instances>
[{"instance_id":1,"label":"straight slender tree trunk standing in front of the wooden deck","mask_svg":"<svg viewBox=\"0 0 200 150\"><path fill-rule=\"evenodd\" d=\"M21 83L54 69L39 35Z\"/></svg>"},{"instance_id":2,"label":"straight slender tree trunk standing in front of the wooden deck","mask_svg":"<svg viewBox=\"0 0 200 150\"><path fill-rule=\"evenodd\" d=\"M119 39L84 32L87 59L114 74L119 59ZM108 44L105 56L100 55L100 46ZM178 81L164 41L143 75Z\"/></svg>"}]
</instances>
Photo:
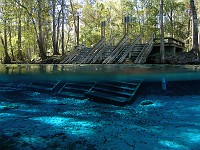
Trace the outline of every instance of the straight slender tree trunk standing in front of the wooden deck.
<instances>
[{"instance_id":1,"label":"straight slender tree trunk standing in front of the wooden deck","mask_svg":"<svg viewBox=\"0 0 200 150\"><path fill-rule=\"evenodd\" d=\"M160 1L160 54L161 54L161 63L165 63L163 0Z\"/></svg>"}]
</instances>

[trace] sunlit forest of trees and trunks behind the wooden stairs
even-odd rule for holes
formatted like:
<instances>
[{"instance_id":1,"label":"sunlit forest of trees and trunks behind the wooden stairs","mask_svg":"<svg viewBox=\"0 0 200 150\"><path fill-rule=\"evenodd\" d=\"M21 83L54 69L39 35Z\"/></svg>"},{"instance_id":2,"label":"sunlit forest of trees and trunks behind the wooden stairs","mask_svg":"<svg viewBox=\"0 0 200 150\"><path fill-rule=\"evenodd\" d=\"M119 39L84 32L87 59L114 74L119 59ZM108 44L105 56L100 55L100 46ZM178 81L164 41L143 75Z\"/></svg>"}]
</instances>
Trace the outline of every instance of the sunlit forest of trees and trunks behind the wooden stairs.
<instances>
[{"instance_id":1,"label":"sunlit forest of trees and trunks behind the wooden stairs","mask_svg":"<svg viewBox=\"0 0 200 150\"><path fill-rule=\"evenodd\" d=\"M119 41L124 17L129 34L160 37L163 1L165 37L180 39L186 51L198 49L200 2L193 0L1 0L0 63L29 63L52 55L65 56L79 44L92 47L101 38ZM194 10L196 13L194 13ZM194 20L196 17L196 20ZM194 20L194 21L193 21ZM194 24L196 28L194 28Z\"/></svg>"}]
</instances>

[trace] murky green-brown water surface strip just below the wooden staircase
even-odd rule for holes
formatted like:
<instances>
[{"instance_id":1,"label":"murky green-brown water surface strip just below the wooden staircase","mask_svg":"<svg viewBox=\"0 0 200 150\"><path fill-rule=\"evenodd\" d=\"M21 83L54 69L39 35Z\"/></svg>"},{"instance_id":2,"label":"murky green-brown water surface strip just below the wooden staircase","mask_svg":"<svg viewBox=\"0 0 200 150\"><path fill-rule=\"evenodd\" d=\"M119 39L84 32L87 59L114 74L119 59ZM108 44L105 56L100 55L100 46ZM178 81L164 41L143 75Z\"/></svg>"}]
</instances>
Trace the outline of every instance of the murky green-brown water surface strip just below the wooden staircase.
<instances>
[{"instance_id":1,"label":"murky green-brown water surface strip just below the wooden staircase","mask_svg":"<svg viewBox=\"0 0 200 150\"><path fill-rule=\"evenodd\" d=\"M193 80L200 79L197 65L0 65L0 80Z\"/></svg>"}]
</instances>

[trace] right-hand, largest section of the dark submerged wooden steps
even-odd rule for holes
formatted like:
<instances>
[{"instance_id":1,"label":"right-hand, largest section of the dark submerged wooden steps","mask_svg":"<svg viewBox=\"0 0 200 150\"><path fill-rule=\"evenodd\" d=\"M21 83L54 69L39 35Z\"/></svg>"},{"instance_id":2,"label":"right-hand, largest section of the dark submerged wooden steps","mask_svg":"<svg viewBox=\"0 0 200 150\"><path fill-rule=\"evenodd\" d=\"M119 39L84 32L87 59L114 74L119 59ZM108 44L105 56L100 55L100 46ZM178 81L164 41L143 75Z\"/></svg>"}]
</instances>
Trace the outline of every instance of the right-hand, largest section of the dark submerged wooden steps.
<instances>
[{"instance_id":1,"label":"right-hand, largest section of the dark submerged wooden steps","mask_svg":"<svg viewBox=\"0 0 200 150\"><path fill-rule=\"evenodd\" d=\"M135 100L136 92L141 83L141 81L129 83L117 81L97 82L85 93L85 96L96 102L124 106Z\"/></svg>"}]
</instances>

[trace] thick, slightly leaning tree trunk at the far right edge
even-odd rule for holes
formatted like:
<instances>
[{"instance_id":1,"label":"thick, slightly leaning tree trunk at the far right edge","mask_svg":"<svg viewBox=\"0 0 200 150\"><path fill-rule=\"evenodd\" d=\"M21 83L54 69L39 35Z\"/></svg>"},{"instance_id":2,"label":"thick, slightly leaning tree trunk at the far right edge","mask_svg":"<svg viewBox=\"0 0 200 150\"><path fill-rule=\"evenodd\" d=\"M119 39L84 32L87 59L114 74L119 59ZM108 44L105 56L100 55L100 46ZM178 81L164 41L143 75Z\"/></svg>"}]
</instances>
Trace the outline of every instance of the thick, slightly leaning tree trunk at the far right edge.
<instances>
[{"instance_id":1,"label":"thick, slightly leaning tree trunk at the far right edge","mask_svg":"<svg viewBox=\"0 0 200 150\"><path fill-rule=\"evenodd\" d=\"M190 0L190 9L192 11L192 51L197 54L197 59L199 60L199 44L198 44L198 19L197 12L194 5L194 0Z\"/></svg>"}]
</instances>

